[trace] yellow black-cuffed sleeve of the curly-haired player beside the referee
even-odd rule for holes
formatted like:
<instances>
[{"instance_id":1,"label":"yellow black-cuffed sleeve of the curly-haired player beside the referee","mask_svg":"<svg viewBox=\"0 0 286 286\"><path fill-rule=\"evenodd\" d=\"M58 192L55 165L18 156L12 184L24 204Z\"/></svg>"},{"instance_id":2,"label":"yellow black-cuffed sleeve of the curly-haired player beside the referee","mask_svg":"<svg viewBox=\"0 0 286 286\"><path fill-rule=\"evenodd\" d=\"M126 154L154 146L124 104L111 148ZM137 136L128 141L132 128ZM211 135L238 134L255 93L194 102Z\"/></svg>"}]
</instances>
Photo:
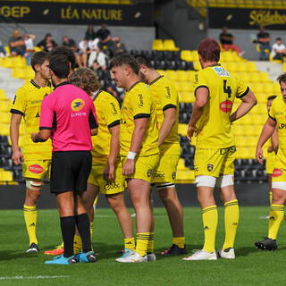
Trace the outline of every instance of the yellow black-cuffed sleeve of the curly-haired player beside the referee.
<instances>
[{"instance_id":1,"label":"yellow black-cuffed sleeve of the curly-haired player beside the referee","mask_svg":"<svg viewBox=\"0 0 286 286\"><path fill-rule=\"evenodd\" d=\"M108 128L120 124L121 111L120 105L116 98L109 96L105 98L105 108L103 108L105 123Z\"/></svg>"}]
</instances>

